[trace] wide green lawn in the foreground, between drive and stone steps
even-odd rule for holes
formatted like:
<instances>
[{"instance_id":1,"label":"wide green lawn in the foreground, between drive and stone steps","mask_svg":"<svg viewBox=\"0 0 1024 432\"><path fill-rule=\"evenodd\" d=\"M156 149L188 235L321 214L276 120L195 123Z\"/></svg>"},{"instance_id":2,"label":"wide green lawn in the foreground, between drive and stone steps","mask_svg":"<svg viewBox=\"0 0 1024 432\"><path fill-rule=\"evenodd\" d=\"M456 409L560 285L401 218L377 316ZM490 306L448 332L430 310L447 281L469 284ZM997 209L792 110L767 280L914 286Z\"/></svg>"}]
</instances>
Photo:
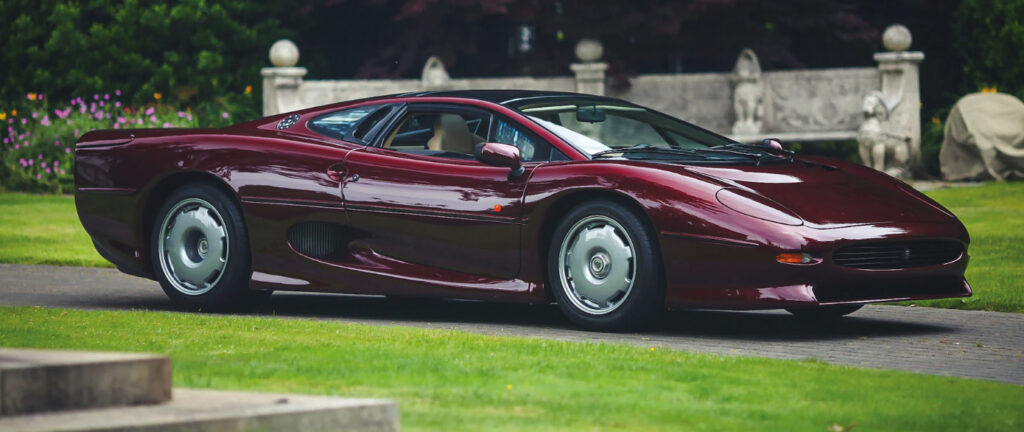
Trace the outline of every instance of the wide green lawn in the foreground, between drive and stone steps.
<instances>
[{"instance_id":1,"label":"wide green lawn in the foreground, between drive and stone steps","mask_svg":"<svg viewBox=\"0 0 1024 432\"><path fill-rule=\"evenodd\" d=\"M1024 387L443 330L0 308L0 346L169 354L176 386L395 398L404 430L1020 430Z\"/></svg>"}]
</instances>

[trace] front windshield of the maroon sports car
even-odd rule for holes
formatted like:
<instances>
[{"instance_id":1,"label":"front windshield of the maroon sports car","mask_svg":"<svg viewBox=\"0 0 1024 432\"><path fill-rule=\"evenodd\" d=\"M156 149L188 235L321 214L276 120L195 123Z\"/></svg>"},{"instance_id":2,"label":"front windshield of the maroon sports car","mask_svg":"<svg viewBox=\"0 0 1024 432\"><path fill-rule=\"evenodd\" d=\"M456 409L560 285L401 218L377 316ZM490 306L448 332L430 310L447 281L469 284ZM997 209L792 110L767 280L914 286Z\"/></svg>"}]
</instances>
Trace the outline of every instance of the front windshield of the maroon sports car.
<instances>
[{"instance_id":1,"label":"front windshield of the maroon sports car","mask_svg":"<svg viewBox=\"0 0 1024 432\"><path fill-rule=\"evenodd\" d=\"M561 99L524 104L519 111L592 159L757 165L788 159L625 102Z\"/></svg>"}]
</instances>

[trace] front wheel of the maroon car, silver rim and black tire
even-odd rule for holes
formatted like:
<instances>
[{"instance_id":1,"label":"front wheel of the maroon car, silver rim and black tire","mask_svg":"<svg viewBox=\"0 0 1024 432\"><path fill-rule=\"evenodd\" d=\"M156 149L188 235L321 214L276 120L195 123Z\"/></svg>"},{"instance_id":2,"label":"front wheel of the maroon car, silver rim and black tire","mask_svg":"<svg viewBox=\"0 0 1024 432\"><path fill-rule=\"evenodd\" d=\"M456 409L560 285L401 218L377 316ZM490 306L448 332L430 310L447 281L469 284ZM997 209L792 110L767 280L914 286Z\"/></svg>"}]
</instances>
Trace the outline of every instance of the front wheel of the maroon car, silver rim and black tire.
<instances>
[{"instance_id":1,"label":"front wheel of the maroon car, silver rim and black tire","mask_svg":"<svg viewBox=\"0 0 1024 432\"><path fill-rule=\"evenodd\" d=\"M602 200L575 207L555 228L548 282L574 323L599 331L636 329L665 308L660 266L642 215Z\"/></svg>"}]
</instances>

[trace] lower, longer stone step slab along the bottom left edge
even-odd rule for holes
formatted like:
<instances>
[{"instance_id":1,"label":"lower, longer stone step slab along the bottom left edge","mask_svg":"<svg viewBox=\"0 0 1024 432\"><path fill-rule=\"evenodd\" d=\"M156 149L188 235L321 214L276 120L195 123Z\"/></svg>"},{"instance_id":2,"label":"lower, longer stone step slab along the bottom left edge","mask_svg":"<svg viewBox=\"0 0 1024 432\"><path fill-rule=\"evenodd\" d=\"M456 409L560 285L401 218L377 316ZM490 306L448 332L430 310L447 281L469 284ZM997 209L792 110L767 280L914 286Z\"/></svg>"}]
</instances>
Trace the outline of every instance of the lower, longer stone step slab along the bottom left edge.
<instances>
[{"instance_id":1,"label":"lower, longer stone step slab along the bottom left edge","mask_svg":"<svg viewBox=\"0 0 1024 432\"><path fill-rule=\"evenodd\" d=\"M398 403L294 394L175 389L172 401L0 418L0 431L390 432Z\"/></svg>"}]
</instances>

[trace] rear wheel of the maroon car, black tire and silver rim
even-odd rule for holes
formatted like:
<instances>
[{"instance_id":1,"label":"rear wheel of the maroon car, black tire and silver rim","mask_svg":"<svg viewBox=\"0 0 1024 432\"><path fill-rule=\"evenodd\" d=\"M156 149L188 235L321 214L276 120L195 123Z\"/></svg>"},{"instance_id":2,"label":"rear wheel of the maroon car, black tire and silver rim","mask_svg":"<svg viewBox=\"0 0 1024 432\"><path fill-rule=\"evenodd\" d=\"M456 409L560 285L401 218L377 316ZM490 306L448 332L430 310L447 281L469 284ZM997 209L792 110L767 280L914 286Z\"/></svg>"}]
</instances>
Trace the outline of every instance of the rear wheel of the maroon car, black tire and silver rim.
<instances>
[{"instance_id":1,"label":"rear wheel of the maroon car, black tire and silver rim","mask_svg":"<svg viewBox=\"0 0 1024 432\"><path fill-rule=\"evenodd\" d=\"M175 215L169 215L171 212ZM172 220L174 223L170 223ZM171 229L165 232L168 227ZM214 240L217 235L207 235L211 231L204 227L217 233L222 231L226 236L218 242ZM218 187L190 183L175 189L157 212L150 235L154 273L167 297L178 304L207 311L248 308L266 300L272 293L249 289L252 273L249 234L241 209ZM161 242L162 235L167 245ZM199 240L195 240L197 235ZM175 246L193 244L205 247ZM180 251L182 253L177 256L187 258L173 258L171 254L165 255L165 250ZM206 252L198 255L199 251ZM189 260L188 264L184 264L185 259ZM174 271L175 260L184 270ZM185 276L191 264L202 268L198 272L205 273L206 267L212 268L209 277L200 280L199 276Z\"/></svg>"}]
</instances>

